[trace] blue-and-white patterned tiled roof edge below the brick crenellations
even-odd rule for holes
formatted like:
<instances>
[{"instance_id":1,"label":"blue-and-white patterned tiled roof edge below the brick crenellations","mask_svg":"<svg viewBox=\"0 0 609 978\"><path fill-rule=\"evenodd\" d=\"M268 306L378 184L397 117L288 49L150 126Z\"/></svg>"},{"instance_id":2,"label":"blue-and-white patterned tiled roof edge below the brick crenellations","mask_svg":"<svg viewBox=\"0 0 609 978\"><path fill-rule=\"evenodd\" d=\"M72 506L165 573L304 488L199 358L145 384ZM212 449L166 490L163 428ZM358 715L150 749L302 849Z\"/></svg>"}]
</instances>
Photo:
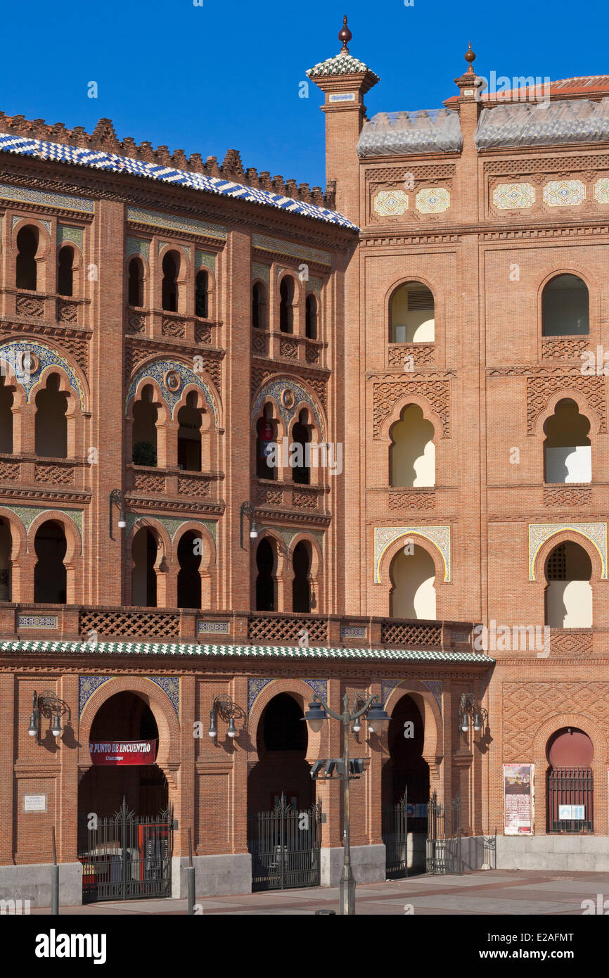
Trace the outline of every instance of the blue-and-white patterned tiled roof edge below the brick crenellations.
<instances>
[{"instance_id":1,"label":"blue-and-white patterned tiled roof edge below the brick crenellations","mask_svg":"<svg viewBox=\"0 0 609 978\"><path fill-rule=\"evenodd\" d=\"M189 173L178 170L173 166L162 163L146 162L142 159L132 159L129 156L116 156L114 153L104 153L101 150L86 150L77 146L64 146L61 143L49 143L45 140L30 139L25 136L14 136L0 133L0 151L13 153L17 156L34 156L38 159L57 160L71 163L75 166L88 166L96 170L107 170L110 173L127 173L136 177L147 177L149 180L159 180L161 183L173 184L176 187L187 187L192 190L245 200L247 203L260 203L267 207L276 207L291 214L302 214L326 224L335 224L341 228L351 228L357 231L355 224L335 210L328 210L315 203L304 200L293 200L281 194L273 194L268 190L256 187L245 187L243 184L222 177L209 177L203 173Z\"/></svg>"}]
</instances>

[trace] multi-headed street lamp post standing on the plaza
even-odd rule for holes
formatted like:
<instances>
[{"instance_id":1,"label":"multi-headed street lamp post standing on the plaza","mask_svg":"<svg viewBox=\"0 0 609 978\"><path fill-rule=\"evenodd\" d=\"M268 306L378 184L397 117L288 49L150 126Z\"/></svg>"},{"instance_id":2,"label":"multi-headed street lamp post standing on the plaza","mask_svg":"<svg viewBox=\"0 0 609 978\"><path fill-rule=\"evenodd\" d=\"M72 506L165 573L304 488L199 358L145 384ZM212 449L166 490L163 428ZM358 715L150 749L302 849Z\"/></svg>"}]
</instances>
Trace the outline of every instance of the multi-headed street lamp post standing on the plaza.
<instances>
[{"instance_id":1,"label":"multi-headed street lamp post standing on the plaza","mask_svg":"<svg viewBox=\"0 0 609 978\"><path fill-rule=\"evenodd\" d=\"M321 704L318 706L317 704ZM367 721L370 733L378 730L389 720L388 715L383 709L378 696L365 696L364 693L357 693L354 697L353 709L349 706L349 695L345 693L342 700L343 711L336 713L332 710L317 693L313 697L313 702L309 703L309 709L304 715L304 719L309 723L311 730L318 732L328 716L342 723L342 743L343 756L338 762L338 776L342 779L343 797L343 866L342 875L338 883L338 912L340 914L355 913L355 878L351 867L351 810L349 792L349 727L353 724L353 729L361 730L359 725L360 717L368 714Z\"/></svg>"}]
</instances>

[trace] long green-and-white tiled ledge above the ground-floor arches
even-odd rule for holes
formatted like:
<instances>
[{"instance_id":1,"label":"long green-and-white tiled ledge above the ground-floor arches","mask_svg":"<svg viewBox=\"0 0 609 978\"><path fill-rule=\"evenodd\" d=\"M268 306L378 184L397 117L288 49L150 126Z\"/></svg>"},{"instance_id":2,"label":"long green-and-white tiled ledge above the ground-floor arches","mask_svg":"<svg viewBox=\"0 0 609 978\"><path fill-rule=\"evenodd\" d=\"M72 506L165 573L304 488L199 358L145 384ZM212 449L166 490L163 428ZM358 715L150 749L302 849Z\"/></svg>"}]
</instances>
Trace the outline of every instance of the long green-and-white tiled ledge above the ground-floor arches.
<instances>
[{"instance_id":1,"label":"long green-and-white tiled ledge above the ground-floor arches","mask_svg":"<svg viewBox=\"0 0 609 978\"><path fill-rule=\"evenodd\" d=\"M0 643L3 652L55 655L188 655L202 658L228 657L288 659L411 659L421 662L469 662L492 665L495 659L477 652L443 652L413 648L301 648L300 645L197 645L156 642L48 642L46 640Z\"/></svg>"}]
</instances>

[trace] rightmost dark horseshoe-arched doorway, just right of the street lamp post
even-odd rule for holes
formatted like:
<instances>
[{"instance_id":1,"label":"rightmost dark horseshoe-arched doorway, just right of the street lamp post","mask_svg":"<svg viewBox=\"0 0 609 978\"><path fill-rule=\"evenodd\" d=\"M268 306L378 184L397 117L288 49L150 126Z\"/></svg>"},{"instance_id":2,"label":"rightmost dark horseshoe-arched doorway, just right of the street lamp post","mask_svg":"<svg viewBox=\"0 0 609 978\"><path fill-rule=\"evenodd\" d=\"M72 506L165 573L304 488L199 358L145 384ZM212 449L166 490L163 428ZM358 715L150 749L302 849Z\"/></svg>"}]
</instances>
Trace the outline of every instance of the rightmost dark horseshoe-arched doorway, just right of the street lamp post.
<instances>
[{"instance_id":1,"label":"rightmost dark horseshoe-arched doorway, just right of the street lamp post","mask_svg":"<svg viewBox=\"0 0 609 978\"><path fill-rule=\"evenodd\" d=\"M391 714L389 759L381 781L382 836L386 871L392 878L425 871L429 766L422 756L424 733L421 712L407 693Z\"/></svg>"}]
</instances>

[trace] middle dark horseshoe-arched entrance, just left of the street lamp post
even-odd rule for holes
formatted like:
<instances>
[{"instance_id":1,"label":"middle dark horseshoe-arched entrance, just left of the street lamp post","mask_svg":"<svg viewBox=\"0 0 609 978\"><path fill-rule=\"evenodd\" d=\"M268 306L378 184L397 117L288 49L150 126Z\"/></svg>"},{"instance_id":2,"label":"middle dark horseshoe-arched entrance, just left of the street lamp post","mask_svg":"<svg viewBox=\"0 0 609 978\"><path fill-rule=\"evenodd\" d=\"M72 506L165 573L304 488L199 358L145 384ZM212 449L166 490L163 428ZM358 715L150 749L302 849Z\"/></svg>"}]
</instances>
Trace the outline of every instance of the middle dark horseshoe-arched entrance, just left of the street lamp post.
<instances>
[{"instance_id":1,"label":"middle dark horseshoe-arched entrance, just left of the street lamp post","mask_svg":"<svg viewBox=\"0 0 609 978\"><path fill-rule=\"evenodd\" d=\"M247 779L252 889L319 886L322 810L306 761L302 697L281 692L258 724L258 763Z\"/></svg>"}]
</instances>

